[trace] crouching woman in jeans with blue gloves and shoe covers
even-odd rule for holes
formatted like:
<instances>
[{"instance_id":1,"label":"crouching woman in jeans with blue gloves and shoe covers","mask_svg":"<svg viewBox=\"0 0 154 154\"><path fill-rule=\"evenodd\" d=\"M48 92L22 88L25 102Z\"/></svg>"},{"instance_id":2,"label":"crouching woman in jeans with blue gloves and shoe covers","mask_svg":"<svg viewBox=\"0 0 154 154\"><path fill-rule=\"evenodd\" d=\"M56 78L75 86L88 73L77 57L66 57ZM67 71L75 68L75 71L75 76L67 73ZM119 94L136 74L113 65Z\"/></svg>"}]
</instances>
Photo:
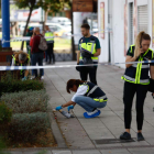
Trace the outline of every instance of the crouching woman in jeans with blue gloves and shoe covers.
<instances>
[{"instance_id":1,"label":"crouching woman in jeans with blue gloves and shoe covers","mask_svg":"<svg viewBox=\"0 0 154 154\"><path fill-rule=\"evenodd\" d=\"M67 92L76 92L70 101L65 105L56 107L56 110L61 110L68 107L68 112L70 109L79 105L87 112L84 113L85 118L98 117L101 112L98 108L105 108L107 106L106 94L95 84L82 81L79 79L69 79L66 86Z\"/></svg>"}]
</instances>

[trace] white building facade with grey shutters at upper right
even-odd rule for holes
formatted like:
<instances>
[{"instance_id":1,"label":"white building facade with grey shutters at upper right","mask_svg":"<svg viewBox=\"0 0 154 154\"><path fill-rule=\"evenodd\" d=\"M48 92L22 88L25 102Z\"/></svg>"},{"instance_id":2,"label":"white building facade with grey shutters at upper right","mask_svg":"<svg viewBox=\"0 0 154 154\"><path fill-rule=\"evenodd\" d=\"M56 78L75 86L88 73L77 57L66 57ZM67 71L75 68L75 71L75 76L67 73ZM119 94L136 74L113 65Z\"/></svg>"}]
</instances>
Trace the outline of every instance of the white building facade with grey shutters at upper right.
<instances>
[{"instance_id":1,"label":"white building facade with grey shutters at upper right","mask_svg":"<svg viewBox=\"0 0 154 154\"><path fill-rule=\"evenodd\" d=\"M151 35L154 50L153 6L154 0L98 0L100 63L123 63L129 46L141 31Z\"/></svg>"}]
</instances>

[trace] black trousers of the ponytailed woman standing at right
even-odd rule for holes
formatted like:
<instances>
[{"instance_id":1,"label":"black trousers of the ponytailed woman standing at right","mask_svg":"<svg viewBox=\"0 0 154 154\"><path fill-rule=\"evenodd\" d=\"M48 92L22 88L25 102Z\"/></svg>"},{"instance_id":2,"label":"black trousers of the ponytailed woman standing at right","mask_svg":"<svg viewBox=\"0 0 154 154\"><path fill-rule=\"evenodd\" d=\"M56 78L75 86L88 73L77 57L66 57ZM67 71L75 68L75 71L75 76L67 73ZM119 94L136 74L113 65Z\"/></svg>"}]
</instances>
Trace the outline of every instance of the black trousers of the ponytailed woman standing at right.
<instances>
[{"instance_id":1,"label":"black trousers of the ponytailed woman standing at right","mask_svg":"<svg viewBox=\"0 0 154 154\"><path fill-rule=\"evenodd\" d=\"M146 98L148 86L147 85L138 85L138 84L131 84L125 81L124 82L124 96L123 96L123 102L124 102L124 124L125 129L131 128L131 121L132 121L132 103L134 95L136 94L136 123L138 123L138 130L142 130L143 125L143 106L144 100Z\"/></svg>"}]
</instances>

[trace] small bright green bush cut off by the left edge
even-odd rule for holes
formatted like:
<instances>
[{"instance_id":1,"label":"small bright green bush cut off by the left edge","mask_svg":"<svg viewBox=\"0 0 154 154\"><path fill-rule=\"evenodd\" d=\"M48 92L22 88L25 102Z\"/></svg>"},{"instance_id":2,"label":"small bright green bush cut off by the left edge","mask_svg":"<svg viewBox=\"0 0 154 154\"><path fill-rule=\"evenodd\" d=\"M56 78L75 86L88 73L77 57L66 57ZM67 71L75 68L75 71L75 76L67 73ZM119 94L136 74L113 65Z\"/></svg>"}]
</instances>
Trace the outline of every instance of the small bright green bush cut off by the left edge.
<instances>
[{"instance_id":1,"label":"small bright green bush cut off by the left edge","mask_svg":"<svg viewBox=\"0 0 154 154\"><path fill-rule=\"evenodd\" d=\"M3 101L0 101L0 124L11 121L12 110L9 109Z\"/></svg>"}]
</instances>

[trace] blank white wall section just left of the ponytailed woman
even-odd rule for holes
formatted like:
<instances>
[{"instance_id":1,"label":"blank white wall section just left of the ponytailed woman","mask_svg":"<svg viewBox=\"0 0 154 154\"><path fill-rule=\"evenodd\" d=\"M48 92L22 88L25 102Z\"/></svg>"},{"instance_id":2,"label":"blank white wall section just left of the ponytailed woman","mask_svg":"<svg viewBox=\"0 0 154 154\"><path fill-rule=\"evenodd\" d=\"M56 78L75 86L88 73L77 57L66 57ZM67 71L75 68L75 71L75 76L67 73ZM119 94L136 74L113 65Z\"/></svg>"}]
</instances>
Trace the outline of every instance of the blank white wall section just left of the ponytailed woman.
<instances>
[{"instance_id":1,"label":"blank white wall section just left of the ponytailed woman","mask_svg":"<svg viewBox=\"0 0 154 154\"><path fill-rule=\"evenodd\" d=\"M124 1L112 0L112 62L121 63L124 56ZM124 65L120 65L124 67Z\"/></svg>"}]
</instances>

